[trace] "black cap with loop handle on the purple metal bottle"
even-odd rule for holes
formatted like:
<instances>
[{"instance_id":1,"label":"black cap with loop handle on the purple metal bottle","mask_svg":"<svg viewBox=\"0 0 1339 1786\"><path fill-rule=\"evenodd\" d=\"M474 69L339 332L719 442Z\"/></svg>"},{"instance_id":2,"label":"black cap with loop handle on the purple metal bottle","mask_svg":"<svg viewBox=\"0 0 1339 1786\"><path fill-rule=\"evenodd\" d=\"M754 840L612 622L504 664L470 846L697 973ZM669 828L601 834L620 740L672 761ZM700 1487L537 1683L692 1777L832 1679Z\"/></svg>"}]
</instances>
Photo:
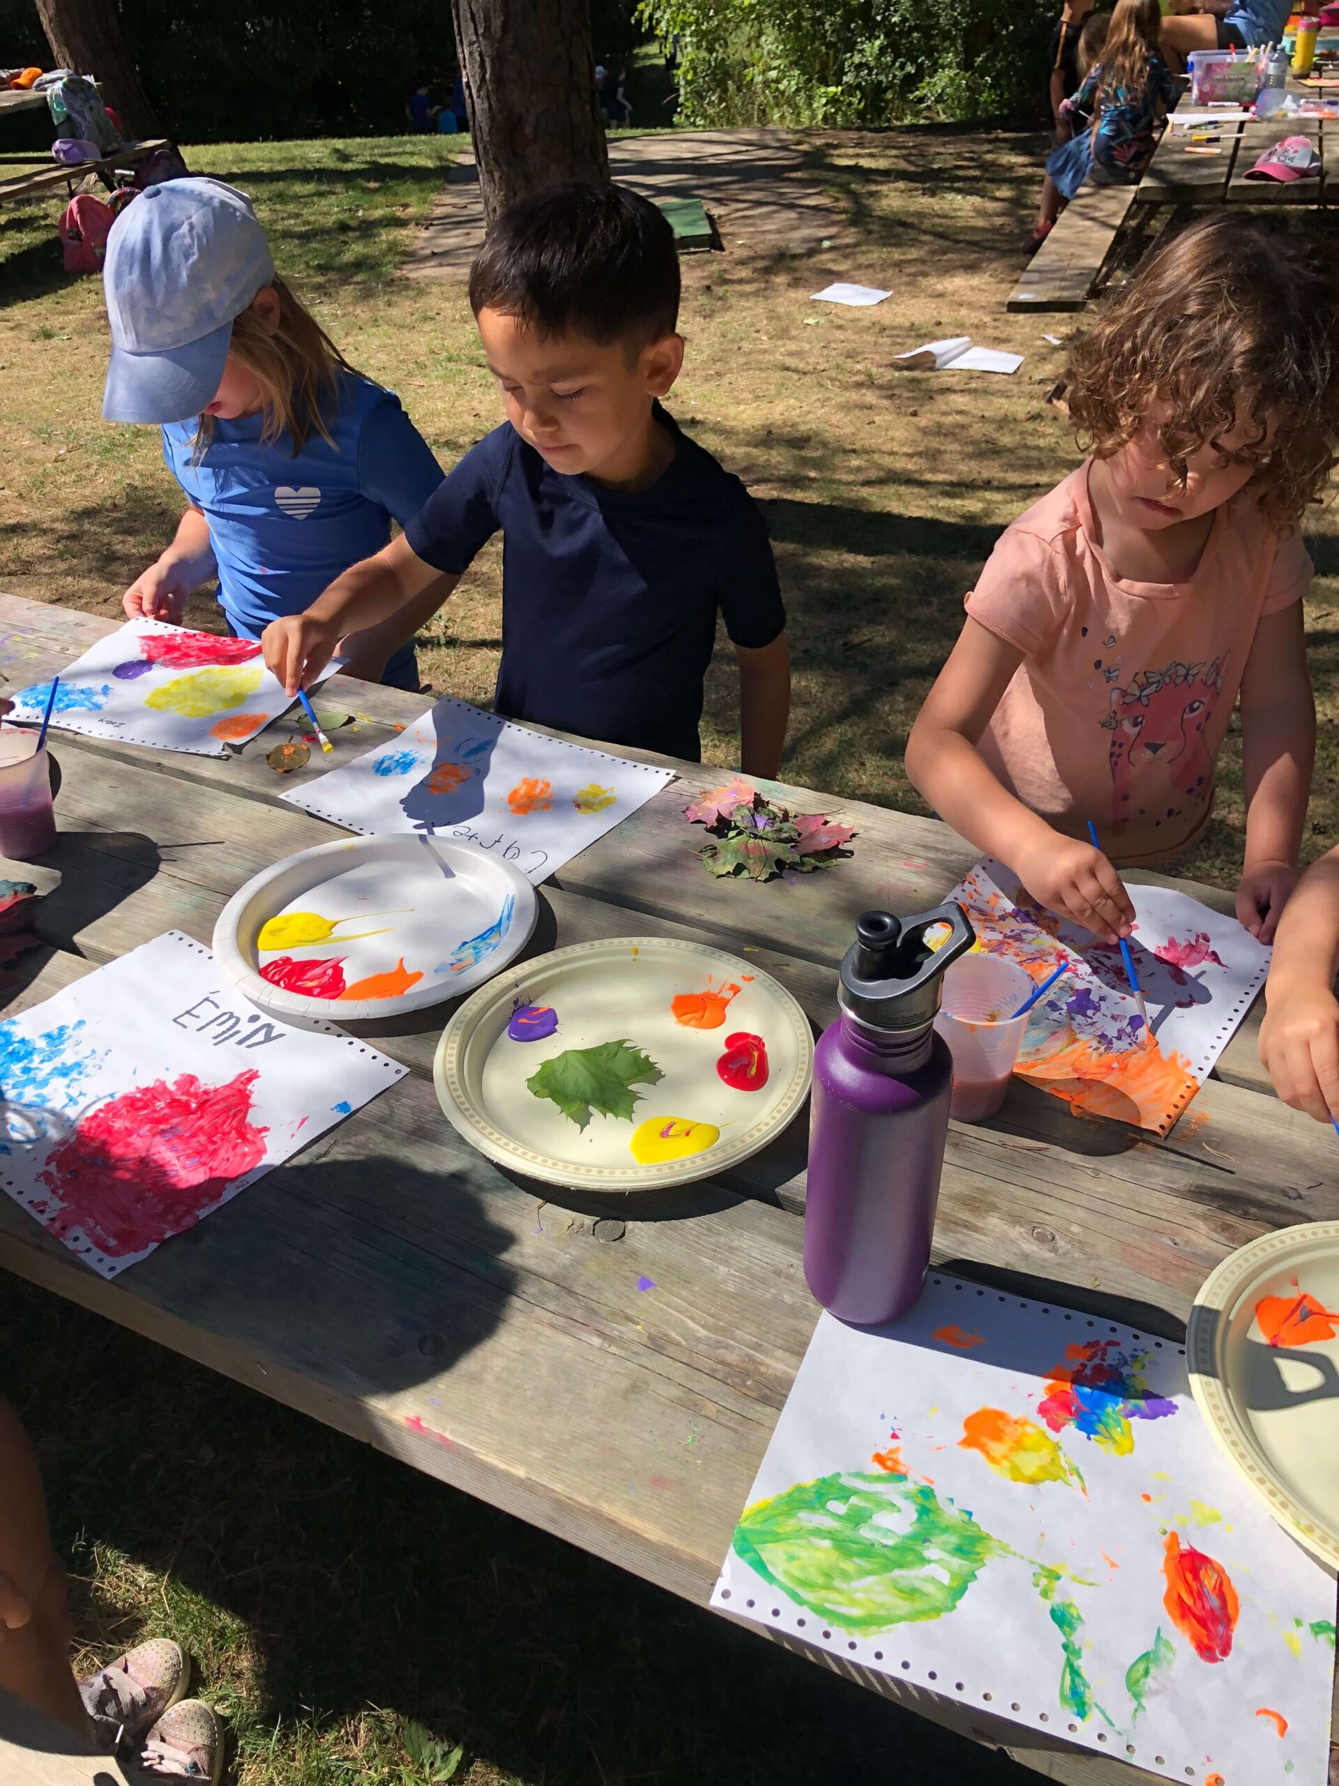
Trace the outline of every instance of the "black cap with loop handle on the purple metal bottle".
<instances>
[{"instance_id":1,"label":"black cap with loop handle on the purple metal bottle","mask_svg":"<svg viewBox=\"0 0 1339 1786\"><path fill-rule=\"evenodd\" d=\"M948 927L948 938L927 932ZM918 1031L934 1023L944 968L977 941L961 906L936 906L911 918L866 911L841 963L841 1009L871 1029Z\"/></svg>"}]
</instances>

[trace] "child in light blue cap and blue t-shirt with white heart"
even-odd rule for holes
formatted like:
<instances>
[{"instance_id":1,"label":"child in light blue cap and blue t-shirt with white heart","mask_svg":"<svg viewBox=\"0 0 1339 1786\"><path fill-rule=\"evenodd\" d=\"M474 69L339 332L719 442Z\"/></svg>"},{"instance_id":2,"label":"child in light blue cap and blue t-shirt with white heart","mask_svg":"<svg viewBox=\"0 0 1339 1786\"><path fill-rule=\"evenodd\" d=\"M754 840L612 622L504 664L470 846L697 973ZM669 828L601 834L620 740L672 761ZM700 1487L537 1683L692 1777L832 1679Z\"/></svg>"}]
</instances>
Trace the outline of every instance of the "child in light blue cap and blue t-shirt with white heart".
<instances>
[{"instance_id":1,"label":"child in light blue cap and blue t-shirt with white heart","mask_svg":"<svg viewBox=\"0 0 1339 1786\"><path fill-rule=\"evenodd\" d=\"M125 591L130 618L179 623L218 577L229 630L255 639L386 545L441 484L400 400L353 371L275 275L245 193L150 186L116 220L104 266L112 355L102 413L162 425L189 507ZM439 600L439 597L437 597ZM414 632L432 589L345 641L352 675L418 689Z\"/></svg>"}]
</instances>

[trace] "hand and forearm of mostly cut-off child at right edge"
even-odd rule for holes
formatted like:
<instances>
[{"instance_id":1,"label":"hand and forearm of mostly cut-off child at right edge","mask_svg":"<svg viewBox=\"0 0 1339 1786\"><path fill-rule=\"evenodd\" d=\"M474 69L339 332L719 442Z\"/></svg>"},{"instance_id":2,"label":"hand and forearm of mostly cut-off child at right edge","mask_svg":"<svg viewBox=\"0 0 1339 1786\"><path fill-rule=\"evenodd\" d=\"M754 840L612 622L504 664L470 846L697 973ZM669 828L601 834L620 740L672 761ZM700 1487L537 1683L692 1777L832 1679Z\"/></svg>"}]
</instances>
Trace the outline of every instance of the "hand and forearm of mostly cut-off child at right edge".
<instances>
[{"instance_id":1,"label":"hand and forearm of mostly cut-off child at right edge","mask_svg":"<svg viewBox=\"0 0 1339 1786\"><path fill-rule=\"evenodd\" d=\"M1316 1122L1339 1116L1339 850L1302 877L1275 938L1260 1061L1275 1091Z\"/></svg>"}]
</instances>

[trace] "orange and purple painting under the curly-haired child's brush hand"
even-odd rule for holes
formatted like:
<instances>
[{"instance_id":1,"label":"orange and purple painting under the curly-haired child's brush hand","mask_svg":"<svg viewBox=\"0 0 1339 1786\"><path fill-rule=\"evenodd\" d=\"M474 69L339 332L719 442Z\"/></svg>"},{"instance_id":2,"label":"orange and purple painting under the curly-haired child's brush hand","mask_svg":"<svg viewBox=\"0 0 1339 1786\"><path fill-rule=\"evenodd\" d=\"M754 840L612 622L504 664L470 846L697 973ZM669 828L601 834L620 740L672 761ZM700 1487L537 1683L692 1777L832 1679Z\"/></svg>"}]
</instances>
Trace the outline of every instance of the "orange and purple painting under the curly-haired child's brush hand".
<instances>
[{"instance_id":1,"label":"orange and purple painting under the curly-haired child's brush hand","mask_svg":"<svg viewBox=\"0 0 1339 1786\"><path fill-rule=\"evenodd\" d=\"M1152 1034L1121 952L1037 906L1002 863L978 863L950 898L964 906L980 948L1018 961L1034 981L1069 963L1034 1007L1014 1070L1077 1111L1166 1134L1264 986L1271 950L1187 893L1127 889Z\"/></svg>"}]
</instances>

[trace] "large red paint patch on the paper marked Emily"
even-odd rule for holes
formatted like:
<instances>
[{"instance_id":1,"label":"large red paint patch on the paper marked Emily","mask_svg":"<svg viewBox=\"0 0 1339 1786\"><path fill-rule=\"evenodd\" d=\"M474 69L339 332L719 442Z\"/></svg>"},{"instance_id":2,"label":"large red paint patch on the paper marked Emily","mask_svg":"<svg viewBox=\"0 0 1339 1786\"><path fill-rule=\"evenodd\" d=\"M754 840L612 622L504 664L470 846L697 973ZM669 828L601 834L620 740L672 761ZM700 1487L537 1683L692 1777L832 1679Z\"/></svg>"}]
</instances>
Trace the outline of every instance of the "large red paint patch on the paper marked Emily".
<instances>
[{"instance_id":1,"label":"large red paint patch on the paper marked Emily","mask_svg":"<svg viewBox=\"0 0 1339 1786\"><path fill-rule=\"evenodd\" d=\"M98 1106L41 1173L61 1200L59 1227L82 1229L112 1259L195 1227L264 1161L268 1131L246 1120L257 1079L252 1068L205 1086L182 1073Z\"/></svg>"}]
</instances>

